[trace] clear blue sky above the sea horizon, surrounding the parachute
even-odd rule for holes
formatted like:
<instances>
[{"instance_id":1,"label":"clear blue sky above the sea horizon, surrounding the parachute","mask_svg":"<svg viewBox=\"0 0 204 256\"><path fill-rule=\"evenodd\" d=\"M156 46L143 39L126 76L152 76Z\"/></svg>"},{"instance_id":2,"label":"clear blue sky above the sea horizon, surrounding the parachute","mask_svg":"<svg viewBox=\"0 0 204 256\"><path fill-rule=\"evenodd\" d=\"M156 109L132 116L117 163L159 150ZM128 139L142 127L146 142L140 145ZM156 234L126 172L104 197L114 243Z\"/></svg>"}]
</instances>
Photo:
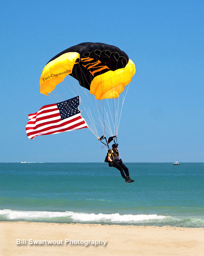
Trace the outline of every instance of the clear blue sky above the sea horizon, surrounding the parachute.
<instances>
[{"instance_id":1,"label":"clear blue sky above the sea horizon, surrounding the parachute","mask_svg":"<svg viewBox=\"0 0 204 256\"><path fill-rule=\"evenodd\" d=\"M28 114L57 102L39 92L44 66L81 42L116 45L135 63L123 162L204 162L203 10L203 1L3 1L0 162L104 161L88 129L32 140L25 131Z\"/></svg>"}]
</instances>

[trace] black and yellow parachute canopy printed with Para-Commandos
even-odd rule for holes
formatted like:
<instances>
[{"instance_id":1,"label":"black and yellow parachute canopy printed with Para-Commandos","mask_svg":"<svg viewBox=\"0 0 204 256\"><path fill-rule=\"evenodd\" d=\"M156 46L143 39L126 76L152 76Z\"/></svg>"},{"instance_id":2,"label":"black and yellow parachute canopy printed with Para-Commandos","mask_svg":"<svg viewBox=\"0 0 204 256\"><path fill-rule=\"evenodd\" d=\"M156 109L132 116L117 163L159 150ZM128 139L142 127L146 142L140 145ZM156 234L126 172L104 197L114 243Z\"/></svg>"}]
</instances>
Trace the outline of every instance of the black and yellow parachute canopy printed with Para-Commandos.
<instances>
[{"instance_id":1,"label":"black and yellow parachute canopy printed with Para-Commandos","mask_svg":"<svg viewBox=\"0 0 204 256\"><path fill-rule=\"evenodd\" d=\"M81 43L57 54L47 63L40 77L40 93L51 93L68 74L96 99L118 98L131 82L135 65L116 46Z\"/></svg>"}]
</instances>

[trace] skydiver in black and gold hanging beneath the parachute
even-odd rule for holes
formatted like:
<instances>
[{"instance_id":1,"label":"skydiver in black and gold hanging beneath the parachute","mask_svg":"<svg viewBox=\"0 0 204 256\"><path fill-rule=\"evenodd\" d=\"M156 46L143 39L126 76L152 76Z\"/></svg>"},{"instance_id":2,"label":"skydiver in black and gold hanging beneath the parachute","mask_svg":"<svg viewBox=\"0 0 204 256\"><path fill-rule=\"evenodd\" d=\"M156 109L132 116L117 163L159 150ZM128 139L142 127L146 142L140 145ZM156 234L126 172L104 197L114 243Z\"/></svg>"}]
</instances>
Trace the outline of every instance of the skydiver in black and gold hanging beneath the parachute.
<instances>
[{"instance_id":1,"label":"skydiver in black and gold hanging beneath the parachute","mask_svg":"<svg viewBox=\"0 0 204 256\"><path fill-rule=\"evenodd\" d=\"M120 171L123 179L125 179L125 182L128 182L128 183L134 182L134 180L131 180L129 176L128 168L124 165L124 163L122 162L122 159L119 158L118 144L113 144L112 150L111 149L108 150L105 161L106 160L108 161L109 167L115 167Z\"/></svg>"}]
</instances>

